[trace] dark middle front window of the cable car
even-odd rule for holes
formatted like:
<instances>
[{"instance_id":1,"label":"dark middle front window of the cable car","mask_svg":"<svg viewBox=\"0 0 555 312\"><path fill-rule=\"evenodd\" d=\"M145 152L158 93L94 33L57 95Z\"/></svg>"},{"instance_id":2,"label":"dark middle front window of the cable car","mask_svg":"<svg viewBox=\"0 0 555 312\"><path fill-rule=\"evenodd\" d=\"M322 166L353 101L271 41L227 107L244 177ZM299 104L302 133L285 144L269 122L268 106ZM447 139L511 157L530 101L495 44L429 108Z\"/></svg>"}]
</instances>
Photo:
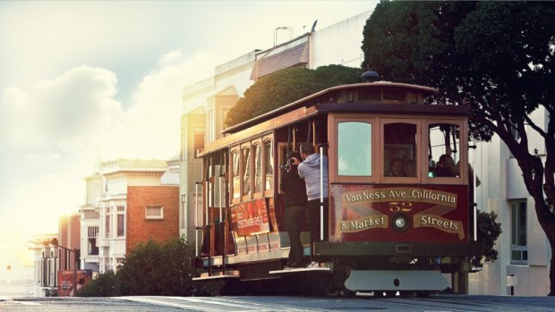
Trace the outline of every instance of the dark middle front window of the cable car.
<instances>
[{"instance_id":1,"label":"dark middle front window of the cable car","mask_svg":"<svg viewBox=\"0 0 555 312\"><path fill-rule=\"evenodd\" d=\"M384 125L383 172L390 177L416 176L416 125L396 122Z\"/></svg>"}]
</instances>

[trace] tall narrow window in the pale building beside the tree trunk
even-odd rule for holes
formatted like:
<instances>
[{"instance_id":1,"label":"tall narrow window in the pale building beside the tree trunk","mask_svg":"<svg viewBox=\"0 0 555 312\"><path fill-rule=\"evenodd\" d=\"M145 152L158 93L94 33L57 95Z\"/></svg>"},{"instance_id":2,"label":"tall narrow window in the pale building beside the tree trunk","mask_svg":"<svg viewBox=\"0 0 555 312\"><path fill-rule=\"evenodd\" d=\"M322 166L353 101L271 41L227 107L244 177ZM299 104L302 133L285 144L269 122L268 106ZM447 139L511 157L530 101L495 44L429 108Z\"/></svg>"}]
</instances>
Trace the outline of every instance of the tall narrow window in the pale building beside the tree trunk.
<instances>
[{"instance_id":1,"label":"tall narrow window in the pale building beside the tree trunk","mask_svg":"<svg viewBox=\"0 0 555 312\"><path fill-rule=\"evenodd\" d=\"M513 265L528 263L526 246L526 201L511 203L510 259Z\"/></svg>"}]
</instances>

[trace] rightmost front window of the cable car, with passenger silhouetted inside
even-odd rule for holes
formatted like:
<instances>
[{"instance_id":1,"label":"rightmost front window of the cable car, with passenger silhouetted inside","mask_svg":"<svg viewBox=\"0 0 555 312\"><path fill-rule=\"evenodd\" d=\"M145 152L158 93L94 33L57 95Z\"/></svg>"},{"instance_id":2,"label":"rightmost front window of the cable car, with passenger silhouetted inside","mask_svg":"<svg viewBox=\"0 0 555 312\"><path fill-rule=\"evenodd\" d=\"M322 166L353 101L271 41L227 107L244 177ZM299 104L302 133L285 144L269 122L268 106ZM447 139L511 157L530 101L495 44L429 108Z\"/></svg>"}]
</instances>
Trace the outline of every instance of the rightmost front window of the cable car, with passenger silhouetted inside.
<instances>
[{"instance_id":1,"label":"rightmost front window of the cable car, with passenger silhouetted inside","mask_svg":"<svg viewBox=\"0 0 555 312\"><path fill-rule=\"evenodd\" d=\"M429 177L457 177L460 150L459 126L433 123L429 127Z\"/></svg>"}]
</instances>

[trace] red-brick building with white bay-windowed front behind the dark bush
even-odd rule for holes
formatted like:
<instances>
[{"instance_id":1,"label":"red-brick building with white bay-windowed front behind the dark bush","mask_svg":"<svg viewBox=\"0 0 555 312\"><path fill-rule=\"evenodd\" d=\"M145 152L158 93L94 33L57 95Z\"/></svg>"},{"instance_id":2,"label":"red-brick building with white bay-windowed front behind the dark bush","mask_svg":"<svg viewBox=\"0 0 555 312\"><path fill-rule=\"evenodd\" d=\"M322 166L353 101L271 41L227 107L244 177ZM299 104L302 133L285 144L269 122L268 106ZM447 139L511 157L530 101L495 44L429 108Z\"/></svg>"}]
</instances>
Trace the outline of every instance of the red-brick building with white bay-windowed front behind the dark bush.
<instances>
[{"instance_id":1,"label":"red-brick building with white bay-windowed front behind the dark bush","mask_svg":"<svg viewBox=\"0 0 555 312\"><path fill-rule=\"evenodd\" d=\"M98 211L99 273L116 271L141 241L179 237L176 174L160 160L118 159L100 165L101 196L91 205Z\"/></svg>"}]
</instances>

